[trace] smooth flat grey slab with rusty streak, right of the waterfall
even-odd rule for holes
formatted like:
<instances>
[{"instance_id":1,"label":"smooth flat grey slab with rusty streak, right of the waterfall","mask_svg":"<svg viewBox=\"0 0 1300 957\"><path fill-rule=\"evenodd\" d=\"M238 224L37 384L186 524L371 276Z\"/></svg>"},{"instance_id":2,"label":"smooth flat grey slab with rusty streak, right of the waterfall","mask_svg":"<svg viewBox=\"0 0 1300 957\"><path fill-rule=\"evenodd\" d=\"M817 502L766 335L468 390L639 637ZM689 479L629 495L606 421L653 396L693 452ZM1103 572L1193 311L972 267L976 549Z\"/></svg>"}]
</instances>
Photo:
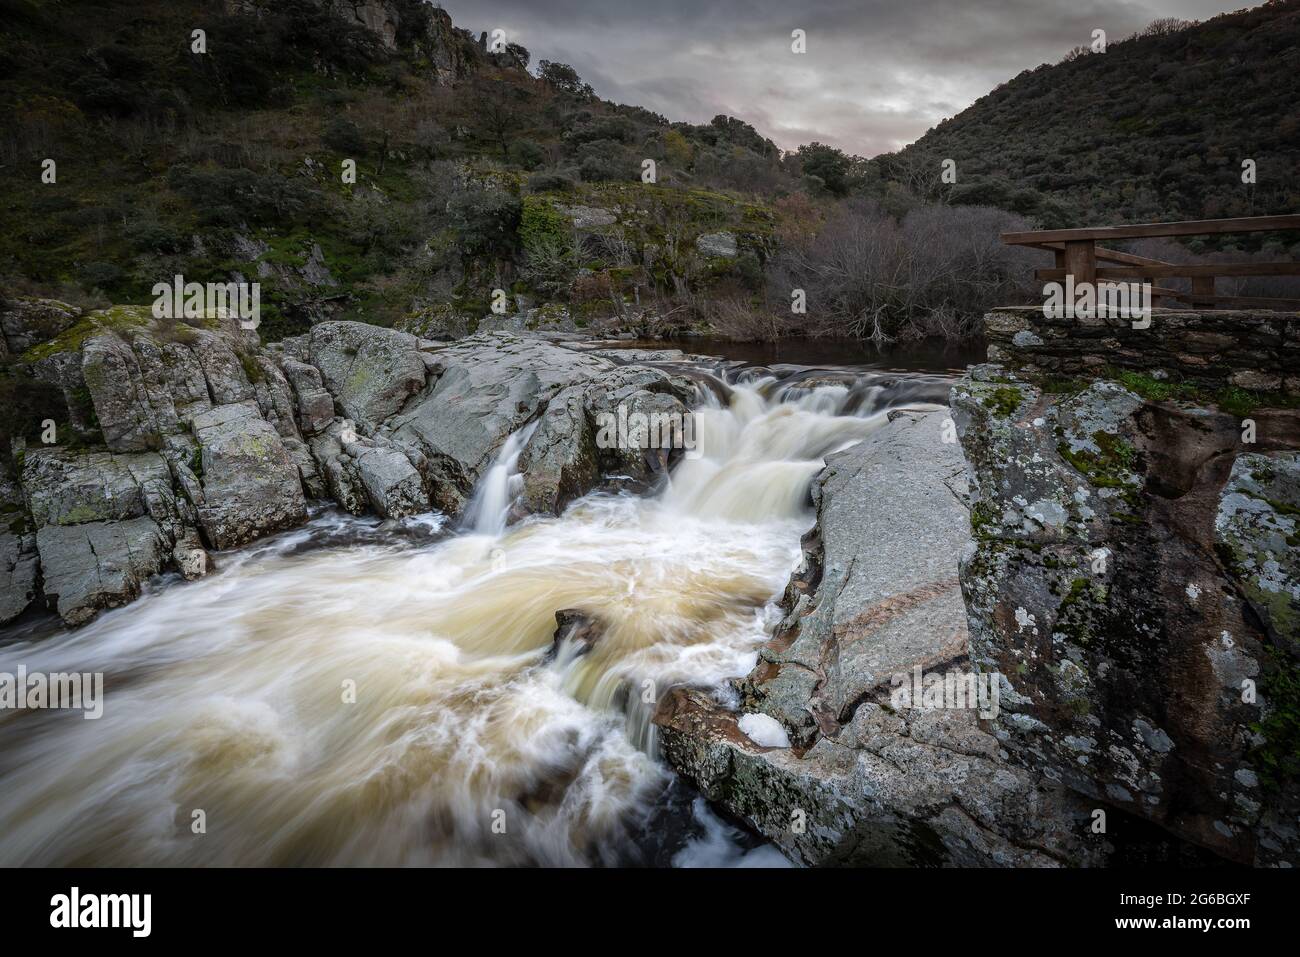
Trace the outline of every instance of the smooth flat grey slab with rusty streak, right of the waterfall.
<instances>
[{"instance_id":1,"label":"smooth flat grey slab with rusty streak, right of the waterfall","mask_svg":"<svg viewBox=\"0 0 1300 957\"><path fill-rule=\"evenodd\" d=\"M965 655L965 476L946 412L897 415L827 459L814 489L819 542L806 554L816 594L742 683L797 737L833 732L896 674Z\"/></svg>"}]
</instances>

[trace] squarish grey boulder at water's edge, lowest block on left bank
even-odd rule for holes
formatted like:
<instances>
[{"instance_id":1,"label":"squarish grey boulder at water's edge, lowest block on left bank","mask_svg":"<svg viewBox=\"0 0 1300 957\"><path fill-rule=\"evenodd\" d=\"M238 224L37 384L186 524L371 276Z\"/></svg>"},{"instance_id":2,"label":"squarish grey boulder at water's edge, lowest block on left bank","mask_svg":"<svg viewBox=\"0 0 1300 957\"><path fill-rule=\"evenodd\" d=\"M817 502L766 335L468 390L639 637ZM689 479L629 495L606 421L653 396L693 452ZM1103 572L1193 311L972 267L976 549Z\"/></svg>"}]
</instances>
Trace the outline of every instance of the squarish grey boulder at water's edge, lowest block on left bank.
<instances>
[{"instance_id":1,"label":"squarish grey boulder at water's edge, lowest block on left bank","mask_svg":"<svg viewBox=\"0 0 1300 957\"><path fill-rule=\"evenodd\" d=\"M150 518L46 525L36 533L46 598L68 624L125 605L162 570L170 544Z\"/></svg>"}]
</instances>

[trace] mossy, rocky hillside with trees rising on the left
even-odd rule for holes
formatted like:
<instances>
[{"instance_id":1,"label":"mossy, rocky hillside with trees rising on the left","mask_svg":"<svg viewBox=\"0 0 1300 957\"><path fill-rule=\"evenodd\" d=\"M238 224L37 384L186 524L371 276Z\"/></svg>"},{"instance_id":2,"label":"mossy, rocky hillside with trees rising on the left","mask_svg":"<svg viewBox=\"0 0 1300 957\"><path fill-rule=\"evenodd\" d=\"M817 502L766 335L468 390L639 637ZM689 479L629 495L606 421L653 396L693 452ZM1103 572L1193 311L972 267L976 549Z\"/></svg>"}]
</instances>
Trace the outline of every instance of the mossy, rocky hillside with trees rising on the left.
<instances>
[{"instance_id":1,"label":"mossy, rocky hillside with trees rising on the left","mask_svg":"<svg viewBox=\"0 0 1300 957\"><path fill-rule=\"evenodd\" d=\"M512 312L627 321L646 296L757 290L774 213L754 194L794 182L740 121L598 100L419 0L0 0L0 17L12 293L104 306L176 273L256 278L270 339L321 319L463 330L494 289Z\"/></svg>"}]
</instances>

